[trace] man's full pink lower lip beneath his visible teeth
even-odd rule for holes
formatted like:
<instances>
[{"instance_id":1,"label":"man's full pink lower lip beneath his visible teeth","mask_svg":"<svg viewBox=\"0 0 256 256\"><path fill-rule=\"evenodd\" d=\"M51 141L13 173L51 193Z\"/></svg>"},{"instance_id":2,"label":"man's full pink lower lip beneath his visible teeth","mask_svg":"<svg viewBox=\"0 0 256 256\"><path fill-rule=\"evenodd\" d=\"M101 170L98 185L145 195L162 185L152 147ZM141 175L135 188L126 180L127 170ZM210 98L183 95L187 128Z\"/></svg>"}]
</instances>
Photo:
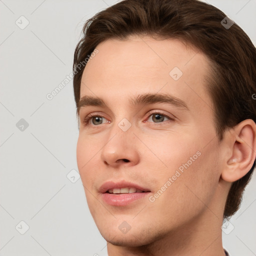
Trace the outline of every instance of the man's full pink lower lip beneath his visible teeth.
<instances>
[{"instance_id":1,"label":"man's full pink lower lip beneath his visible teeth","mask_svg":"<svg viewBox=\"0 0 256 256\"><path fill-rule=\"evenodd\" d=\"M125 194L113 194L113 193L102 193L102 199L104 202L114 206L124 206L135 200L148 197L150 192L142 193L125 193Z\"/></svg>"}]
</instances>

